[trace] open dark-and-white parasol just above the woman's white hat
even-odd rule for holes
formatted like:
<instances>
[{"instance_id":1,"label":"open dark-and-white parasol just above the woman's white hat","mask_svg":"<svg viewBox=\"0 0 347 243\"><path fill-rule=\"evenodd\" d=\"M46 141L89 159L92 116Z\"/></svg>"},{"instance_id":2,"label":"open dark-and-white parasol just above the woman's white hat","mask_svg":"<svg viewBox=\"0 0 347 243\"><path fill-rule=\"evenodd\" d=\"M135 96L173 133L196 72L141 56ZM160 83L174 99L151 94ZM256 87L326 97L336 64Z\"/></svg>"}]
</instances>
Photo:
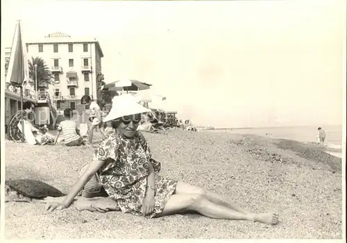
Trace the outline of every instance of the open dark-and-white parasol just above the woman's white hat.
<instances>
[{"instance_id":1,"label":"open dark-and-white parasol just above the woman's white hat","mask_svg":"<svg viewBox=\"0 0 347 243\"><path fill-rule=\"evenodd\" d=\"M106 89L110 91L140 91L149 89L152 84L147 84L145 82L140 82L138 80L118 80L115 82L110 82L103 85L101 89Z\"/></svg>"}]
</instances>

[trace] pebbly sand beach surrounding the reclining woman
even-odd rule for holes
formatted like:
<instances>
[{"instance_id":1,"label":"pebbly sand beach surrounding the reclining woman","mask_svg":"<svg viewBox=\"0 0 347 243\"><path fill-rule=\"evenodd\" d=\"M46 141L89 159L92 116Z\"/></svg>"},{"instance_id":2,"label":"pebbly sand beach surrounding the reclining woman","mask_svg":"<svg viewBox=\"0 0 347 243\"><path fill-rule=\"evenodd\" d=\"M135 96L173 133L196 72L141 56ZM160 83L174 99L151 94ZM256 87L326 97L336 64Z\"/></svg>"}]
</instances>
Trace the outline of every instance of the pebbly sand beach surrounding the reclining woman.
<instances>
[{"instance_id":1,"label":"pebbly sand beach surrounding the reclining woman","mask_svg":"<svg viewBox=\"0 0 347 243\"><path fill-rule=\"evenodd\" d=\"M342 237L341 159L296 141L253 135L171 130L144 136L153 158L162 162L164 177L213 190L256 213L278 212L280 223L267 226L201 215L146 219L72 206L47 213L44 204L10 201L5 205L6 238ZM6 179L37 179L65 193L94 150L11 141L5 145Z\"/></svg>"}]
</instances>

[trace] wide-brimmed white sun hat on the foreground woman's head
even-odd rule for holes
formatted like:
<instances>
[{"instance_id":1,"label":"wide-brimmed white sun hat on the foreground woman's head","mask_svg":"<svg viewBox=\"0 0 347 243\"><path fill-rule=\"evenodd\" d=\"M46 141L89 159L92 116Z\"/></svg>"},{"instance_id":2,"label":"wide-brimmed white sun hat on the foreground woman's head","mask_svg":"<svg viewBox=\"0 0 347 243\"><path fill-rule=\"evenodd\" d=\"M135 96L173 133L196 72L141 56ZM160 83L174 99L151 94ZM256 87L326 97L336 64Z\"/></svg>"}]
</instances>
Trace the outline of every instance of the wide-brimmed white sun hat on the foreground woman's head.
<instances>
[{"instance_id":1,"label":"wide-brimmed white sun hat on the foreground woman's head","mask_svg":"<svg viewBox=\"0 0 347 243\"><path fill-rule=\"evenodd\" d=\"M112 98L112 108L108 115L103 119L103 122L115 120L122 116L130 116L149 112L151 109L143 107L136 102L132 96L115 96Z\"/></svg>"}]
</instances>

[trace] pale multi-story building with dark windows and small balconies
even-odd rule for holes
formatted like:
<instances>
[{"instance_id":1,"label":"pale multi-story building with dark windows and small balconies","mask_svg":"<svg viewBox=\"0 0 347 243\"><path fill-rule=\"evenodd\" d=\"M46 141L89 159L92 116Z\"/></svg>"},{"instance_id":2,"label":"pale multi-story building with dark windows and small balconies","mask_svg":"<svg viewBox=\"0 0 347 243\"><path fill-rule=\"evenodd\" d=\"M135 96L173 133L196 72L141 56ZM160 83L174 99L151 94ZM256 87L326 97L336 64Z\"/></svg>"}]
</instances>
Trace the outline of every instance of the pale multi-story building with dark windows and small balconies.
<instances>
[{"instance_id":1,"label":"pale multi-story building with dark windows and small balconies","mask_svg":"<svg viewBox=\"0 0 347 243\"><path fill-rule=\"evenodd\" d=\"M84 95L99 98L97 78L103 52L95 38L53 33L27 42L26 47L29 59L41 57L51 69L53 85L38 84L37 89L49 91L58 109L76 109Z\"/></svg>"}]
</instances>

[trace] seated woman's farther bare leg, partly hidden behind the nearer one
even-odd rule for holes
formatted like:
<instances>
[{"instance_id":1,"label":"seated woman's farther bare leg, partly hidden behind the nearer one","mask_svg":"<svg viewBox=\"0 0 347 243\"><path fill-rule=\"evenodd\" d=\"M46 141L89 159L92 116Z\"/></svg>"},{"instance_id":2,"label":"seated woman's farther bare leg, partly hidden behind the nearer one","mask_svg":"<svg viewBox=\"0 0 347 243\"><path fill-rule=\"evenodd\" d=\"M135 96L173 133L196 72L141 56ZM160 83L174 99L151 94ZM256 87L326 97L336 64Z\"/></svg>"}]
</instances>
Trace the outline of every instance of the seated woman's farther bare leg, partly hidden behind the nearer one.
<instances>
[{"instance_id":1,"label":"seated woman's farther bare leg, partly hidden behind the nearer one","mask_svg":"<svg viewBox=\"0 0 347 243\"><path fill-rule=\"evenodd\" d=\"M193 186L183 181L178 181L175 193L176 194L186 194L186 193L201 194L201 195L204 195L208 200L212 201L214 204L226 206L240 213L251 213L251 211L245 208L240 208L239 206L235 205L234 203L232 203L230 199L227 199L226 197L222 197L221 195L218 195L215 192L203 190L202 188L199 188L198 186Z\"/></svg>"}]
</instances>

